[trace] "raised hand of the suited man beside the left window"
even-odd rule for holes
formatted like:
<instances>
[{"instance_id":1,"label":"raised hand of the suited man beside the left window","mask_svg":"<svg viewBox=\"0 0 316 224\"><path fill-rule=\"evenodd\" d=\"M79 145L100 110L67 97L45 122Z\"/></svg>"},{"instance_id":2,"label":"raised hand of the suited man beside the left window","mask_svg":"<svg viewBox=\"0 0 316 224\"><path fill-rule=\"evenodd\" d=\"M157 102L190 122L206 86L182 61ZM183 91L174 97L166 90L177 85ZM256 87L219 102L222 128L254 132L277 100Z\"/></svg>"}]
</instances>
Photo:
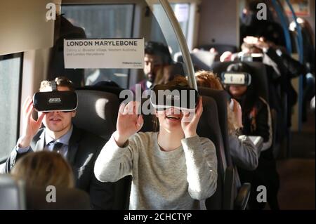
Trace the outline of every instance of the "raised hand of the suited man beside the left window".
<instances>
[{"instance_id":1,"label":"raised hand of the suited man beside the left window","mask_svg":"<svg viewBox=\"0 0 316 224\"><path fill-rule=\"evenodd\" d=\"M31 143L32 138L35 136L39 128L41 127L41 121L43 121L45 114L42 113L37 121L32 117L34 110L33 101L28 96L22 105L22 136L18 141L19 147L28 147Z\"/></svg>"}]
</instances>

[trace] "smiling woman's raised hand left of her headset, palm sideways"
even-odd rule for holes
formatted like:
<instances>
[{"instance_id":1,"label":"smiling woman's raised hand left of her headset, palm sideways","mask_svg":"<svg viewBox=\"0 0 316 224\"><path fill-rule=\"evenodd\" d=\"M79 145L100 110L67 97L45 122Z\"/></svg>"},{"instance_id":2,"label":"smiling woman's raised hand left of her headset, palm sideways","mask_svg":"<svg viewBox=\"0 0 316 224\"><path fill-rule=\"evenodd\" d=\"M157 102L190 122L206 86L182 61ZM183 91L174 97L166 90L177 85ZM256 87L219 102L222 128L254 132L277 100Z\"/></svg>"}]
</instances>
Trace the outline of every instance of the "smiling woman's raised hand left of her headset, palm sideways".
<instances>
[{"instance_id":1,"label":"smiling woman's raised hand left of her headset, palm sideways","mask_svg":"<svg viewBox=\"0 0 316 224\"><path fill-rule=\"evenodd\" d=\"M129 102L127 105L122 103L119 107L117 131L114 132L114 139L119 147L123 147L126 140L143 126L143 116L136 113L138 107L140 107L140 103L135 101Z\"/></svg>"}]
</instances>

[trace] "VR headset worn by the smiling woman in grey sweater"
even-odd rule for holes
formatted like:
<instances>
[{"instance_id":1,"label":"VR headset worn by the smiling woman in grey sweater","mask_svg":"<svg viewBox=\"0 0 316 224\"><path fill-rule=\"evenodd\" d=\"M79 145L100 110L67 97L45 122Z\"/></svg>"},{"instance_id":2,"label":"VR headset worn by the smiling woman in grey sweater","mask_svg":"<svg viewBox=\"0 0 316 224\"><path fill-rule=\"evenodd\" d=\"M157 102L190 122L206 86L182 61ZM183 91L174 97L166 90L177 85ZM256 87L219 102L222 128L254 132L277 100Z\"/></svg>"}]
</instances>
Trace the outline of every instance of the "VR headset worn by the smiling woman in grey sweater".
<instances>
[{"instance_id":1,"label":"VR headset worn by the smiling woman in grey sweater","mask_svg":"<svg viewBox=\"0 0 316 224\"><path fill-rule=\"evenodd\" d=\"M178 110L194 112L199 103L199 93L185 86L156 85L150 94L150 103L155 110L175 107Z\"/></svg>"}]
</instances>

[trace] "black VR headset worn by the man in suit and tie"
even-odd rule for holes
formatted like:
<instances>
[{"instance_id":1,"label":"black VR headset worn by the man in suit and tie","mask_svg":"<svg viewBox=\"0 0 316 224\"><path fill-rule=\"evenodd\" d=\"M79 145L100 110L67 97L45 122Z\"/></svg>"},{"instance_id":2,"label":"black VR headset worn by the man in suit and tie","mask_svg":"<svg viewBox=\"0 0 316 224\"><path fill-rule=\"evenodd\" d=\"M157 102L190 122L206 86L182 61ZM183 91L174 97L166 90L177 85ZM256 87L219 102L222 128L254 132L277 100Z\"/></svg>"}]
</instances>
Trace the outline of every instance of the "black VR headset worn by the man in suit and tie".
<instances>
[{"instance_id":1,"label":"black VR headset worn by the man in suit and tie","mask_svg":"<svg viewBox=\"0 0 316 224\"><path fill-rule=\"evenodd\" d=\"M78 98L74 91L57 91L55 81L51 81L53 91L37 92L33 95L34 108L39 112L71 112L77 109Z\"/></svg>"}]
</instances>

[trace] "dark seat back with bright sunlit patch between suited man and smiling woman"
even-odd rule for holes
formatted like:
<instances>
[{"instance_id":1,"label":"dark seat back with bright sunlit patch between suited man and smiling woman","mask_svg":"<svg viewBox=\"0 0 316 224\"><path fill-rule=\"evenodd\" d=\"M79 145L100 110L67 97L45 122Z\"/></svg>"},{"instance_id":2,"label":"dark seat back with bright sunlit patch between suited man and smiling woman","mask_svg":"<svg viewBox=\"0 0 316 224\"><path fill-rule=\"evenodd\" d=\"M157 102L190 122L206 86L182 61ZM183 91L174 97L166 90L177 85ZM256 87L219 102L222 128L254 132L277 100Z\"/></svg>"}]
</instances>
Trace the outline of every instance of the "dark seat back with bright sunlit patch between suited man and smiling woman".
<instances>
[{"instance_id":1,"label":"dark seat back with bright sunlit patch between suited man and smiling woman","mask_svg":"<svg viewBox=\"0 0 316 224\"><path fill-rule=\"evenodd\" d=\"M110 92L107 92L109 91ZM77 115L74 124L100 137L110 137L116 130L119 112L118 88L111 86L86 86L76 91L78 95ZM114 184L113 209L129 208L129 190L131 176L126 176Z\"/></svg>"}]
</instances>

